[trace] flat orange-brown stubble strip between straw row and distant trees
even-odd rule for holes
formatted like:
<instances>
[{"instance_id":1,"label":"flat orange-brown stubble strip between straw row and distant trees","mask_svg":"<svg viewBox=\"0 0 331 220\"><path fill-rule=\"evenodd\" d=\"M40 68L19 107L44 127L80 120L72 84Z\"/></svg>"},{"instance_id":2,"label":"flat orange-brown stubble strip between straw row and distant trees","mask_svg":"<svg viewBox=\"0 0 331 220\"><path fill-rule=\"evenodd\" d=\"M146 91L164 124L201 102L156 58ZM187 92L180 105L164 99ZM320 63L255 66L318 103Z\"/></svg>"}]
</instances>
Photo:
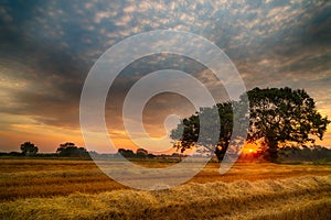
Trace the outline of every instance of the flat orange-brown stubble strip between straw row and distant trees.
<instances>
[{"instance_id":1,"label":"flat orange-brown stubble strip between straw row and distant trees","mask_svg":"<svg viewBox=\"0 0 331 220\"><path fill-rule=\"evenodd\" d=\"M140 163L162 167L164 163ZM209 164L190 183L232 183L281 179L331 174L328 165L277 165L237 163L225 175L218 164ZM0 160L0 201L18 198L67 196L73 193L102 193L127 187L111 180L92 161Z\"/></svg>"}]
</instances>

